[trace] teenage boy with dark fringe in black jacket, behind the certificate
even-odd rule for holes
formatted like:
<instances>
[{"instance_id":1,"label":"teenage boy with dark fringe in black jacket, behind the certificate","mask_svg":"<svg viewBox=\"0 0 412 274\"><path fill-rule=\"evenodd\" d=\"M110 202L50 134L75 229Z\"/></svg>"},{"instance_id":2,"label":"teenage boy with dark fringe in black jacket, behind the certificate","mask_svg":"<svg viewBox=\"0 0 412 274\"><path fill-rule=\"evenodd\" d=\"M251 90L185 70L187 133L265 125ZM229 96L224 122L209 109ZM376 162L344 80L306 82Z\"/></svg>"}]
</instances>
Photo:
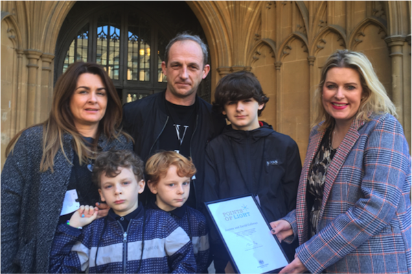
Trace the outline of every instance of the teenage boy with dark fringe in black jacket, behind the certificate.
<instances>
[{"instance_id":1,"label":"teenage boy with dark fringe in black jacket, behind the certificate","mask_svg":"<svg viewBox=\"0 0 412 274\"><path fill-rule=\"evenodd\" d=\"M213 105L231 125L206 147L203 195L205 201L214 201L251 193L271 222L295 209L301 160L292 138L258 120L267 101L253 73L240 71L220 79ZM215 232L214 265L216 273L223 273L228 257ZM293 247L282 246L293 259Z\"/></svg>"}]
</instances>

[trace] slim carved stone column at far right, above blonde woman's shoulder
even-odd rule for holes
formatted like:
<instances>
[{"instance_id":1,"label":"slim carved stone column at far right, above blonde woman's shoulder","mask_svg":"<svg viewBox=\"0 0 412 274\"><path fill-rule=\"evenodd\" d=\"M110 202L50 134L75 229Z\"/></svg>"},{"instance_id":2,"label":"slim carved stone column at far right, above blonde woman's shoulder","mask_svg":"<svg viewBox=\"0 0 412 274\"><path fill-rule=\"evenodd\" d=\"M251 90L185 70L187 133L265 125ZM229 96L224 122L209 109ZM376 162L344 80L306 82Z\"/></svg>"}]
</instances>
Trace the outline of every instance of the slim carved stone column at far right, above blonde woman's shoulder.
<instances>
[{"instance_id":1,"label":"slim carved stone column at far right, above blonde woman's shoulder","mask_svg":"<svg viewBox=\"0 0 412 274\"><path fill-rule=\"evenodd\" d=\"M385 38L391 49L392 61L392 101L396 105L399 121L403 125L403 53L402 47L405 42L403 36L390 36Z\"/></svg>"}]
</instances>

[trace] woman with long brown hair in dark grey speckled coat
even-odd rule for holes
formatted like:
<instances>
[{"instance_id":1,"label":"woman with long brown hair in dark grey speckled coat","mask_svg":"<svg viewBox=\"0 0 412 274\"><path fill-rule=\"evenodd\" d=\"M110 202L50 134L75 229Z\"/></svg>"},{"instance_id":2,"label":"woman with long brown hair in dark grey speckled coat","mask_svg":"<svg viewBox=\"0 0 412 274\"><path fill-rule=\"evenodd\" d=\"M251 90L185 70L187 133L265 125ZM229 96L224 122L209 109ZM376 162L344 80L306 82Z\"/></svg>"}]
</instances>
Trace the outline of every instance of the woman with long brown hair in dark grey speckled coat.
<instances>
[{"instance_id":1,"label":"woman with long brown hair in dark grey speckled coat","mask_svg":"<svg viewBox=\"0 0 412 274\"><path fill-rule=\"evenodd\" d=\"M47 273L56 227L77 209L71 206L106 209L91 170L99 151L133 149L121 122L122 103L102 66L71 64L56 83L49 118L16 134L6 149L0 273Z\"/></svg>"}]
</instances>

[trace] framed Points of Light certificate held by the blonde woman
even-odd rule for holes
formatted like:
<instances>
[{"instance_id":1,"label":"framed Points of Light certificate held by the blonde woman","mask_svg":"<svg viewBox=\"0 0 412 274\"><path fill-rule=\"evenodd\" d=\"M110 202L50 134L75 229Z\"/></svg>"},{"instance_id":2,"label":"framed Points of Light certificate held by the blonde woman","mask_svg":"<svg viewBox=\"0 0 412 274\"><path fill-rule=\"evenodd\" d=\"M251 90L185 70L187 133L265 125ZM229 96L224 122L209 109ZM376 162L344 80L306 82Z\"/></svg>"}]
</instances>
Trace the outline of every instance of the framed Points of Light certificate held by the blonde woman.
<instances>
[{"instance_id":1,"label":"framed Points of Light certificate held by the blonde woman","mask_svg":"<svg viewBox=\"0 0 412 274\"><path fill-rule=\"evenodd\" d=\"M238 273L277 273L289 263L252 195L205 205Z\"/></svg>"}]
</instances>

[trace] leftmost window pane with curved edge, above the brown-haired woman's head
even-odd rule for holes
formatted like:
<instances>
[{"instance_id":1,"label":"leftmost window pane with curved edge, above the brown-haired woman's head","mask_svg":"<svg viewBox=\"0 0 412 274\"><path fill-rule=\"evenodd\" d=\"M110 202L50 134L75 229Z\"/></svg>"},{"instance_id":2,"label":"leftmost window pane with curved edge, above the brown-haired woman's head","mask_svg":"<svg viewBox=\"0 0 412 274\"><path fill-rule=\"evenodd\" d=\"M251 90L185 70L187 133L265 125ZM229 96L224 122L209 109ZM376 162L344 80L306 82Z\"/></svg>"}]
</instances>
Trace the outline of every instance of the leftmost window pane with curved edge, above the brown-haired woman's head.
<instances>
[{"instance_id":1,"label":"leftmost window pane with curved edge, above the brown-haired woman's head","mask_svg":"<svg viewBox=\"0 0 412 274\"><path fill-rule=\"evenodd\" d=\"M89 43L89 24L84 25L76 38L70 43L69 50L66 53L65 62L63 64L63 73L76 61L87 62L87 50Z\"/></svg>"}]
</instances>

